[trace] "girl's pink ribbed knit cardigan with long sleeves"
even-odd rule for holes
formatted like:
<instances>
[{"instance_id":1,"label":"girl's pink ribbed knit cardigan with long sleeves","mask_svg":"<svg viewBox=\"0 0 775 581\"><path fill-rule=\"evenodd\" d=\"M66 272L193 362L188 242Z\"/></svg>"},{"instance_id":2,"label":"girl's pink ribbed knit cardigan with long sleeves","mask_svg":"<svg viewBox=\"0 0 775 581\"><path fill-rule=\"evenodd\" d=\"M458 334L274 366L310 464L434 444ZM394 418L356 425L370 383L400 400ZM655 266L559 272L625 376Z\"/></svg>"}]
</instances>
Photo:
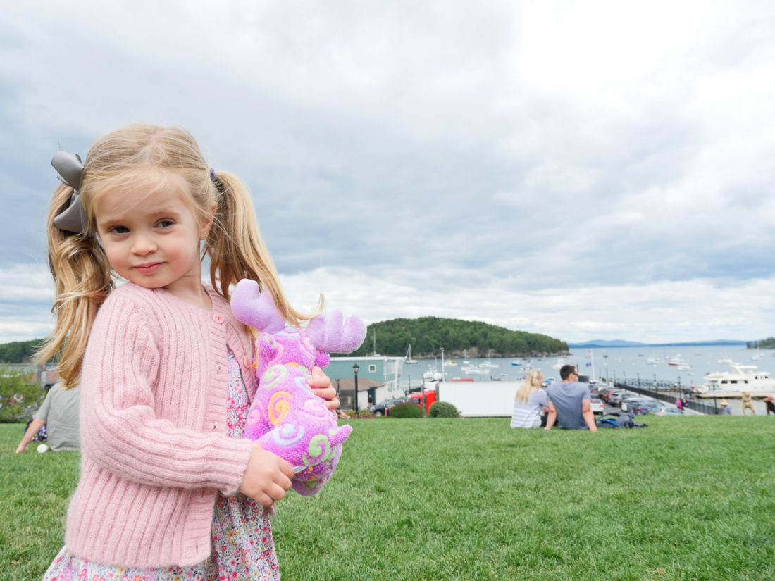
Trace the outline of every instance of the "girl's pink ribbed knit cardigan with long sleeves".
<instances>
[{"instance_id":1,"label":"girl's pink ribbed knit cardigan with long sleeves","mask_svg":"<svg viewBox=\"0 0 775 581\"><path fill-rule=\"evenodd\" d=\"M81 372L81 480L65 544L106 565L191 566L210 555L215 493L236 493L251 442L226 436L227 349L252 398L251 342L212 312L123 284L99 308Z\"/></svg>"}]
</instances>

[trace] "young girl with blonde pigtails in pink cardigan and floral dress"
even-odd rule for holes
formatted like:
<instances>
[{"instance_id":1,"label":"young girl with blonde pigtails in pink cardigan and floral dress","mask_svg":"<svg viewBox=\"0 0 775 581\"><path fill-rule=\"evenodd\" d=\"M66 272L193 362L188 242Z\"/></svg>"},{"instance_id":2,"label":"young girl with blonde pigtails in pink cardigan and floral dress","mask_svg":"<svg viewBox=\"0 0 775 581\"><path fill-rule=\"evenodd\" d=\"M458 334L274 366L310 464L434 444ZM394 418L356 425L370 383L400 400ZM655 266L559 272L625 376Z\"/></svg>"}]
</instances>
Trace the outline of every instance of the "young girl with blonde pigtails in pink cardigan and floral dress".
<instances>
[{"instance_id":1,"label":"young girl with blonde pigtails in pink cardigan and floral dress","mask_svg":"<svg viewBox=\"0 0 775 581\"><path fill-rule=\"evenodd\" d=\"M279 579L268 507L292 470L242 438L257 385L229 286L258 280L289 323L308 316L281 291L250 194L179 128L130 125L82 166L52 163L57 325L40 359L59 353L67 386L80 380L82 450L45 579ZM310 383L338 407L321 370Z\"/></svg>"}]
</instances>

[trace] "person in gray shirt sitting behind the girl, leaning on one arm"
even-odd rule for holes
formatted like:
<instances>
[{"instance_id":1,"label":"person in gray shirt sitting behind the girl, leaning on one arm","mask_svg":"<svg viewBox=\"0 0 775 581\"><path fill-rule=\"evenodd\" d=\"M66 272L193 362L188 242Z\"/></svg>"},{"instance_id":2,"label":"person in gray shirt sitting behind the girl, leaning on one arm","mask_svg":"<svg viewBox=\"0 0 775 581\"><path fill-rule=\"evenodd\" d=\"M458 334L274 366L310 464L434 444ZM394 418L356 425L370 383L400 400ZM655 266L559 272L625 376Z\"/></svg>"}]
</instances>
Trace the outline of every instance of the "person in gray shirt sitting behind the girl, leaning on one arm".
<instances>
[{"instance_id":1,"label":"person in gray shirt sitting behind the girl, leaning on one arm","mask_svg":"<svg viewBox=\"0 0 775 581\"><path fill-rule=\"evenodd\" d=\"M38 411L33 414L33 421L24 432L16 453L24 452L29 442L43 425L47 425L47 445L57 452L59 450L77 450L81 448L81 430L78 424L78 408L80 404L79 388L63 390L60 384L53 386Z\"/></svg>"}]
</instances>

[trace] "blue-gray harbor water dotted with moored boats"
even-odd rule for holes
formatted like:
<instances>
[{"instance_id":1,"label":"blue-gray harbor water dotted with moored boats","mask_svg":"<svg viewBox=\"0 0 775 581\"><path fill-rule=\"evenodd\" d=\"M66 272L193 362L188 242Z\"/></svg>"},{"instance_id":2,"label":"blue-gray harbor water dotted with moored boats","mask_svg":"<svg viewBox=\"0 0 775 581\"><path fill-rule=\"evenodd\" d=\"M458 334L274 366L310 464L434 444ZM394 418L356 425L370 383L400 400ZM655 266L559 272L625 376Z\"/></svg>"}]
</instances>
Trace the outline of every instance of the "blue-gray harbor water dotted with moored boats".
<instances>
[{"instance_id":1,"label":"blue-gray harbor water dotted with moored boats","mask_svg":"<svg viewBox=\"0 0 775 581\"><path fill-rule=\"evenodd\" d=\"M680 347L618 347L609 349L570 349L571 355L531 359L489 358L466 359L468 365L486 369L486 374L467 374L463 372L463 359L446 359L446 365L441 365L441 359L421 359L417 365L405 365L401 383L406 389L419 387L422 383L422 373L429 369L442 372L445 380L473 379L474 381L518 381L527 373L525 367L542 371L545 378L560 380L560 367L568 363L574 365L582 375L591 380L601 380L608 377L617 383L626 382L646 389L656 387L660 390L677 390L678 387L692 387L704 384L704 376L708 373L729 371L729 366L723 359L732 359L735 363L756 365L759 370L775 372L775 353L756 349L746 349L746 346L680 346ZM671 359L684 362L681 369L668 365ZM512 365L512 361L521 365ZM450 364L454 363L454 364ZM487 367L487 365L491 365ZM671 389L672 387L672 389ZM703 400L713 404L713 399ZM718 403L718 402L717 402ZM732 414L742 413L739 399L729 399ZM720 404L719 404L720 405ZM756 414L766 414L766 406L762 401L754 401Z\"/></svg>"}]
</instances>

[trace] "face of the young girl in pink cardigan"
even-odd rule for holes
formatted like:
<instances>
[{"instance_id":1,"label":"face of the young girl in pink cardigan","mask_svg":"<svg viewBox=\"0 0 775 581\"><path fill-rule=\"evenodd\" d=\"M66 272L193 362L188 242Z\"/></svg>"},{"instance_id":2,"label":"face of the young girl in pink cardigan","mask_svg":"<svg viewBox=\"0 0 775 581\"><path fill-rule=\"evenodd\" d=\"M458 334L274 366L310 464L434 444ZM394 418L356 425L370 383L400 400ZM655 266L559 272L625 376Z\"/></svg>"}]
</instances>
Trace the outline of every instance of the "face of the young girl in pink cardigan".
<instances>
[{"instance_id":1,"label":"face of the young girl in pink cardigan","mask_svg":"<svg viewBox=\"0 0 775 581\"><path fill-rule=\"evenodd\" d=\"M97 232L112 269L141 287L163 287L179 297L201 292L199 241L212 218L199 220L190 200L188 184L177 174L157 185L129 184L95 196Z\"/></svg>"}]
</instances>

